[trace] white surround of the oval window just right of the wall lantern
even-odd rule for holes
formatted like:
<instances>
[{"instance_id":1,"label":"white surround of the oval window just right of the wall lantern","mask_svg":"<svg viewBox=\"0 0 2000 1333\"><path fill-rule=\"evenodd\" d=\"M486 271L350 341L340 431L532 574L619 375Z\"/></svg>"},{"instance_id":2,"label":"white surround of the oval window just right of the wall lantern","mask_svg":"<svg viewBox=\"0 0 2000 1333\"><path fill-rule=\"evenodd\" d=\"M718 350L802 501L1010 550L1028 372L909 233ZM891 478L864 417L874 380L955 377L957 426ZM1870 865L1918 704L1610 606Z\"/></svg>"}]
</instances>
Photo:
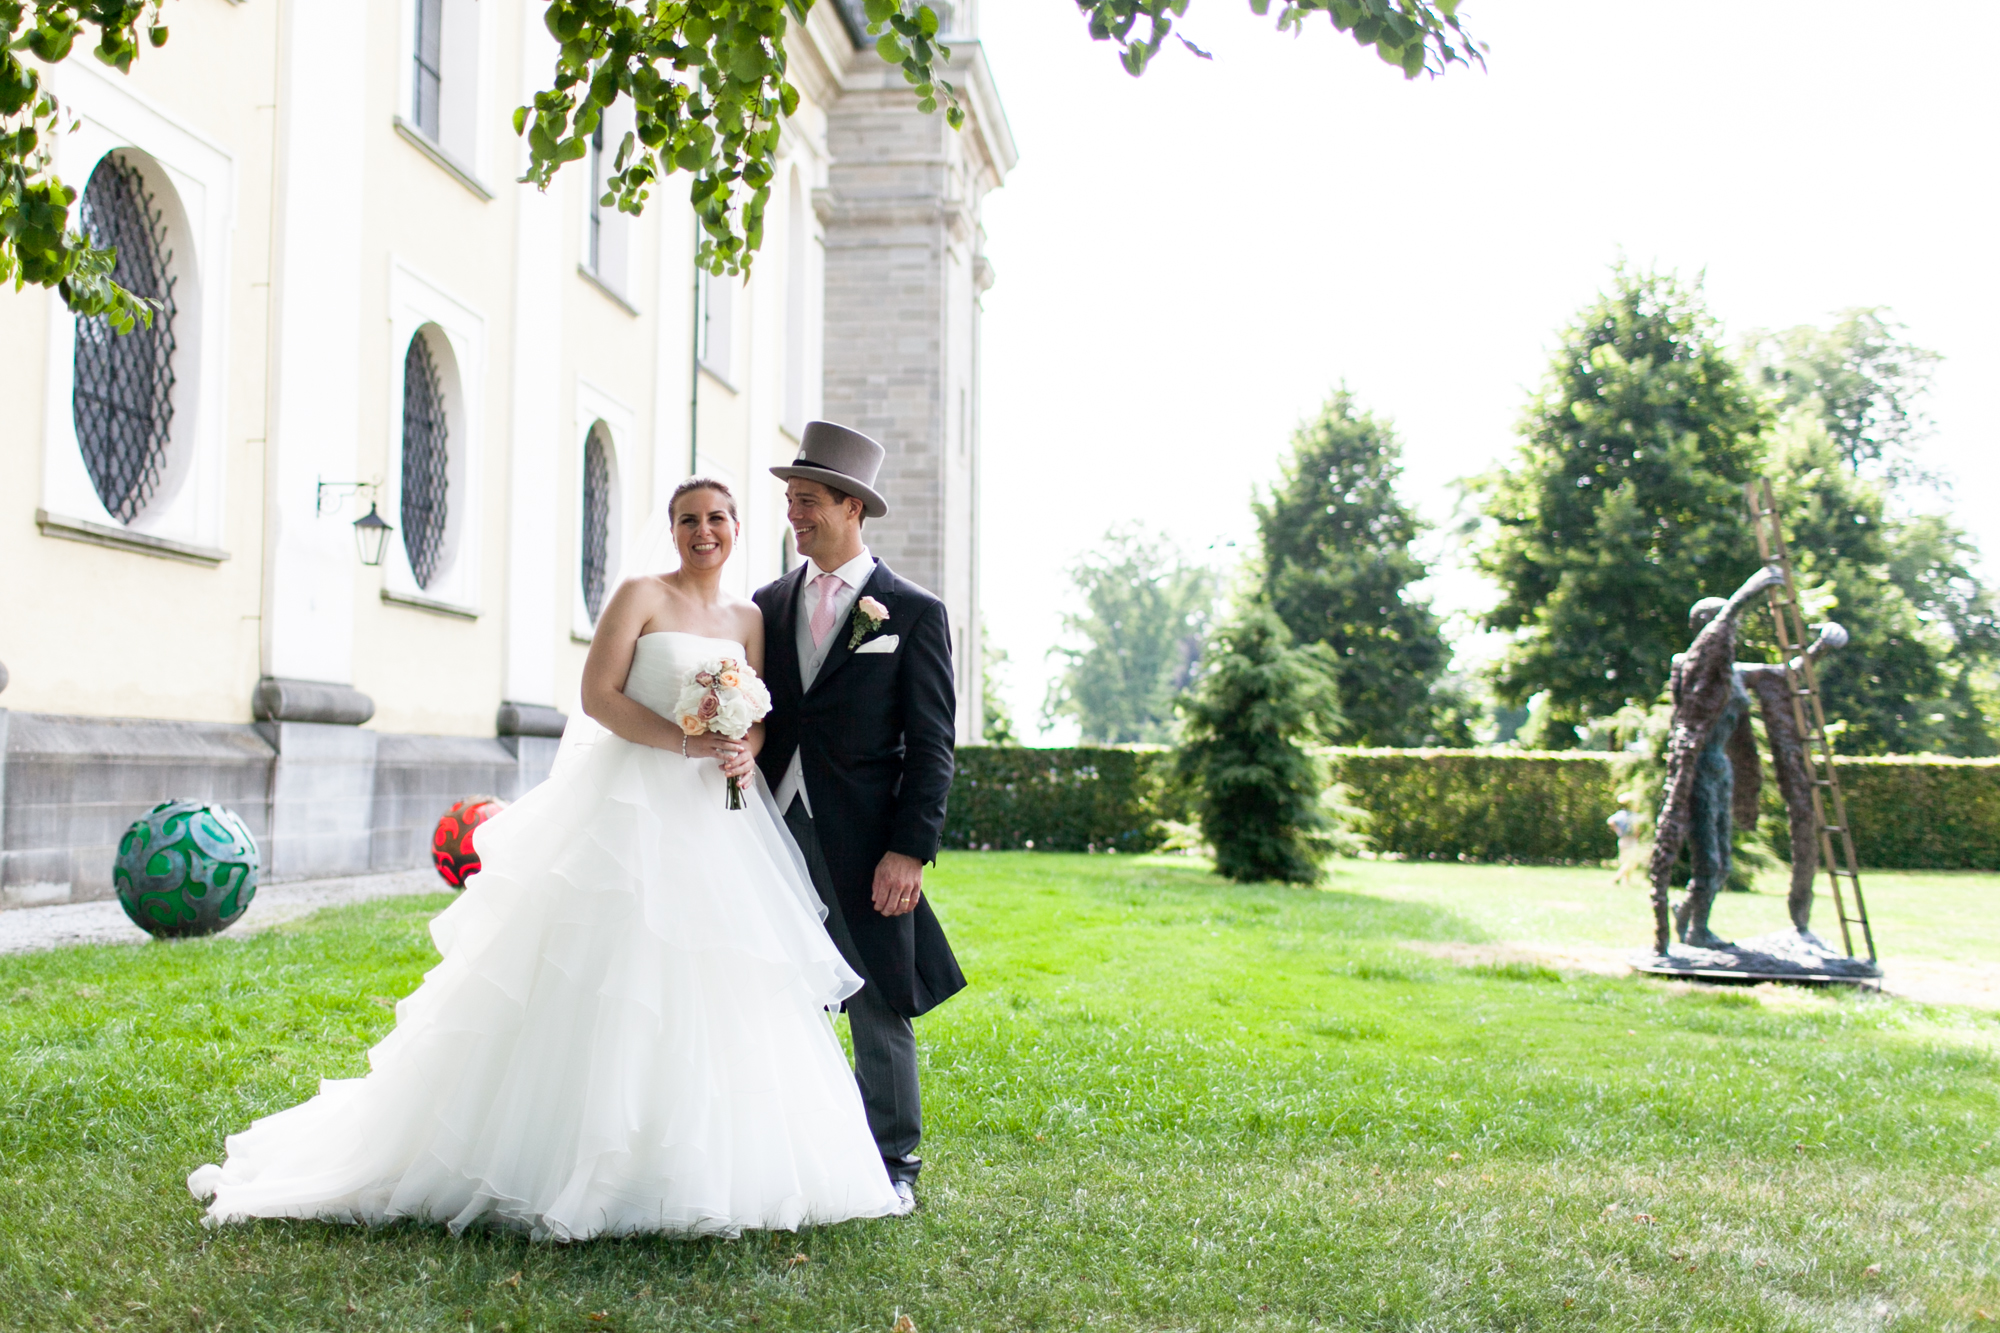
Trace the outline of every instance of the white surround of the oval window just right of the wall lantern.
<instances>
[{"instance_id":1,"label":"white surround of the oval window just right of the wall lantern","mask_svg":"<svg viewBox=\"0 0 2000 1333\"><path fill-rule=\"evenodd\" d=\"M410 338L436 324L452 364L444 378L450 490L446 492L444 554L430 586L418 586L402 534L402 368ZM396 524L382 554L382 598L456 616L480 610L480 536L486 526L482 490L486 460L486 316L406 262L388 270L388 450L382 470L382 516Z\"/></svg>"}]
</instances>

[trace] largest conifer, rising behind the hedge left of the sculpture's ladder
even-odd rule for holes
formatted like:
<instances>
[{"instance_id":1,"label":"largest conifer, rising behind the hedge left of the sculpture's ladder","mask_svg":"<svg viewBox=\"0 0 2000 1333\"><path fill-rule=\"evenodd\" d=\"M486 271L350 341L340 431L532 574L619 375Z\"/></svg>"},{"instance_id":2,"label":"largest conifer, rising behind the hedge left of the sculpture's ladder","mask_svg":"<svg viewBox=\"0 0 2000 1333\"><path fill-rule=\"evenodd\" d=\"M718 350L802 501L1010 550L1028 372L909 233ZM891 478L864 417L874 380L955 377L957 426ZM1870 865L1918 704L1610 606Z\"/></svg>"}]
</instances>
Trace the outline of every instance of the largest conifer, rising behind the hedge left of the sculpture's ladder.
<instances>
[{"instance_id":1,"label":"largest conifer, rising behind the hedge left of the sculpture's ladder","mask_svg":"<svg viewBox=\"0 0 2000 1333\"><path fill-rule=\"evenodd\" d=\"M1562 332L1514 462L1486 480L1478 556L1502 590L1486 624L1516 632L1494 693L1546 691L1534 743L1574 747L1580 723L1658 699L1688 606L1756 568L1744 482L1766 422L1700 290L1672 276L1618 268Z\"/></svg>"}]
</instances>

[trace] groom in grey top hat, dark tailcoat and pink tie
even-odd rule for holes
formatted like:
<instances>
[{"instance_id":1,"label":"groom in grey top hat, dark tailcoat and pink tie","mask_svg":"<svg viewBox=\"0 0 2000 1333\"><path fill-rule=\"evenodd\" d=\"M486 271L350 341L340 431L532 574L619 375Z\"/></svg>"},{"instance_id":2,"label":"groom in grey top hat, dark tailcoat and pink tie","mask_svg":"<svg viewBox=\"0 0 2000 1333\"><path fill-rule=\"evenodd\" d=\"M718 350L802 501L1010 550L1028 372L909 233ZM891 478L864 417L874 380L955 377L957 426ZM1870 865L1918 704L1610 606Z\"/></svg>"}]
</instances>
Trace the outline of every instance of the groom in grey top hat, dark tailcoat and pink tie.
<instances>
[{"instance_id":1,"label":"groom in grey top hat, dark tailcoat and pink tie","mask_svg":"<svg viewBox=\"0 0 2000 1333\"><path fill-rule=\"evenodd\" d=\"M888 514L882 446L806 424L784 478L806 562L756 590L772 711L758 765L826 903L826 931L862 989L848 997L854 1079L902 1213L924 1135L910 1019L966 979L924 901L952 791L952 634L944 602L868 554Z\"/></svg>"}]
</instances>

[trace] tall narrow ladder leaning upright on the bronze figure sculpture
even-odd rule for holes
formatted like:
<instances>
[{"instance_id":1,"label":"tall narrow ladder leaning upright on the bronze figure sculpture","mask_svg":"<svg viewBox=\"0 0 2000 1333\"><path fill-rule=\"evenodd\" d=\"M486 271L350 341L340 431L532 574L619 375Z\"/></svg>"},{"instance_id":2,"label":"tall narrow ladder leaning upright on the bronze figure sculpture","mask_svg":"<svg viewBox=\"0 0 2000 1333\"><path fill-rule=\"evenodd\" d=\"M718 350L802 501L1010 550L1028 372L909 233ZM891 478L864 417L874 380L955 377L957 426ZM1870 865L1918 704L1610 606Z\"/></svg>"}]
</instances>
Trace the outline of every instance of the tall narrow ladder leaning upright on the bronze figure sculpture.
<instances>
[{"instance_id":1,"label":"tall narrow ladder leaning upright on the bronze figure sculpture","mask_svg":"<svg viewBox=\"0 0 2000 1333\"><path fill-rule=\"evenodd\" d=\"M1786 693L1792 701L1792 719L1806 739L1806 763L1812 773L1812 819L1820 831L1820 865L1834 891L1834 913L1840 917L1840 943L1854 955L1854 927L1862 929L1862 947L1868 961L1876 963L1874 931L1868 929L1868 905L1862 899L1862 879L1854 861L1854 835L1848 831L1848 803L1840 795L1840 775L1834 771L1834 749L1826 737L1826 711L1820 707L1820 673L1806 652L1806 620L1798 606L1798 582L1792 578L1792 556L1784 546L1784 530L1778 522L1778 498L1770 480L1758 476L1744 486L1750 506L1750 524L1756 528L1756 546L1764 564L1774 564L1784 572L1784 584L1770 590L1770 616L1778 630L1778 656L1784 662ZM1828 819L1832 813L1832 819ZM1838 835L1838 839L1836 839ZM1846 893L1840 881L1846 879ZM1854 913L1848 915L1848 901Z\"/></svg>"}]
</instances>

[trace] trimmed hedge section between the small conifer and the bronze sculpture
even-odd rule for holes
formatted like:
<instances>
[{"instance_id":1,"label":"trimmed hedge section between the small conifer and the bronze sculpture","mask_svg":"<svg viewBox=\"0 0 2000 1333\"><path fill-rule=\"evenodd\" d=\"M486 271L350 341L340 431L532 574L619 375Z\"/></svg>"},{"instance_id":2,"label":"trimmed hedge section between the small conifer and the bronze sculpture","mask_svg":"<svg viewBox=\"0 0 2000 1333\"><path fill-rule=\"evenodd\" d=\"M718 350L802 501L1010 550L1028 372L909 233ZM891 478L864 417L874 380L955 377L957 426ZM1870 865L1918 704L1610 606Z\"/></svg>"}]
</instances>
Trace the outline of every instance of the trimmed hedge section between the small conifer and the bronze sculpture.
<instances>
[{"instance_id":1,"label":"trimmed hedge section between the small conifer and the bronze sculpture","mask_svg":"<svg viewBox=\"0 0 2000 1333\"><path fill-rule=\"evenodd\" d=\"M1410 861L1596 863L1618 853L1606 755L1574 751L1330 753L1378 853Z\"/></svg>"}]
</instances>

